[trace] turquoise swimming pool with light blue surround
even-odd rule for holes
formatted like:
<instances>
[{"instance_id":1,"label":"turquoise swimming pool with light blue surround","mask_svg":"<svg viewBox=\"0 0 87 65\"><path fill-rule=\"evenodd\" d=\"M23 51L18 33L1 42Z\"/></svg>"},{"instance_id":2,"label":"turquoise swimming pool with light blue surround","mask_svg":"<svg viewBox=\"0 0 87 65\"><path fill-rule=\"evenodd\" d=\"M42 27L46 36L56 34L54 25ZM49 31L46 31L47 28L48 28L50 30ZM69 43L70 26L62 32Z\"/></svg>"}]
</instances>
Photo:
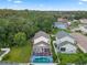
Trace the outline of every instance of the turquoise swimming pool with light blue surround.
<instances>
[{"instance_id":1,"label":"turquoise swimming pool with light blue surround","mask_svg":"<svg viewBox=\"0 0 87 65\"><path fill-rule=\"evenodd\" d=\"M53 63L52 56L32 56L32 63Z\"/></svg>"}]
</instances>

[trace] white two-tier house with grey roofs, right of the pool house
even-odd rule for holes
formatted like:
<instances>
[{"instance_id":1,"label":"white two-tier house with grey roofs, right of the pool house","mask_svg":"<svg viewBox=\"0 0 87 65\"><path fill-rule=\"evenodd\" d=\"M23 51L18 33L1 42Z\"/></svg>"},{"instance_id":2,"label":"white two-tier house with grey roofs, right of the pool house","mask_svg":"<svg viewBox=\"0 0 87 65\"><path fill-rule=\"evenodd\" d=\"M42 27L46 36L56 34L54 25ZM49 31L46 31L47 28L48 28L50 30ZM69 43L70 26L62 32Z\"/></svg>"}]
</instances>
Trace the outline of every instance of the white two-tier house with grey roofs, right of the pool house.
<instances>
[{"instance_id":1,"label":"white two-tier house with grey roofs, right of the pool house","mask_svg":"<svg viewBox=\"0 0 87 65\"><path fill-rule=\"evenodd\" d=\"M55 46L61 53L76 53L77 51L75 39L64 31L56 34Z\"/></svg>"}]
</instances>

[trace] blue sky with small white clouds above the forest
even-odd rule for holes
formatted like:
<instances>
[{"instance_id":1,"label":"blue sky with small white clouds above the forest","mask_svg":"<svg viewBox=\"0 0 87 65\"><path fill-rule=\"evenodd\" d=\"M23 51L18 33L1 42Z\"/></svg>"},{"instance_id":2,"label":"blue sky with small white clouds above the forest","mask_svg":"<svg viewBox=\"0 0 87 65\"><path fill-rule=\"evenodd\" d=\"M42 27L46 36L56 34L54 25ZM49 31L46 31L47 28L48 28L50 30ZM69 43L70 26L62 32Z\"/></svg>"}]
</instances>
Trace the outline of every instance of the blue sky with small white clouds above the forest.
<instances>
[{"instance_id":1,"label":"blue sky with small white clouds above the forest","mask_svg":"<svg viewBox=\"0 0 87 65\"><path fill-rule=\"evenodd\" d=\"M0 0L0 9L41 11L87 11L87 0Z\"/></svg>"}]
</instances>

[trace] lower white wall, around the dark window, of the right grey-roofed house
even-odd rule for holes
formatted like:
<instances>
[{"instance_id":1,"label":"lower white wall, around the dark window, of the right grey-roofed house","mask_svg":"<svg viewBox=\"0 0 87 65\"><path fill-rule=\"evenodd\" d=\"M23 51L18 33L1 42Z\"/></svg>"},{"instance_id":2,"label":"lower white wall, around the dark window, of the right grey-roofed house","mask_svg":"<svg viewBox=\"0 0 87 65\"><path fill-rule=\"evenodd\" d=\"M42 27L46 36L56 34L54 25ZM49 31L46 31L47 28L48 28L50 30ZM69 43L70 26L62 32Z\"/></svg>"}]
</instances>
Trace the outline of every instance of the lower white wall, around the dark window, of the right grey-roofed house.
<instances>
[{"instance_id":1,"label":"lower white wall, around the dark window, of the right grey-roofed house","mask_svg":"<svg viewBox=\"0 0 87 65\"><path fill-rule=\"evenodd\" d=\"M62 52L61 51L61 47L65 47L66 48L66 51L65 52ZM66 45L64 45L64 46L61 46L59 47L59 52L61 53L76 53L76 46L74 46L74 45L72 45L72 44L66 44Z\"/></svg>"}]
</instances>

